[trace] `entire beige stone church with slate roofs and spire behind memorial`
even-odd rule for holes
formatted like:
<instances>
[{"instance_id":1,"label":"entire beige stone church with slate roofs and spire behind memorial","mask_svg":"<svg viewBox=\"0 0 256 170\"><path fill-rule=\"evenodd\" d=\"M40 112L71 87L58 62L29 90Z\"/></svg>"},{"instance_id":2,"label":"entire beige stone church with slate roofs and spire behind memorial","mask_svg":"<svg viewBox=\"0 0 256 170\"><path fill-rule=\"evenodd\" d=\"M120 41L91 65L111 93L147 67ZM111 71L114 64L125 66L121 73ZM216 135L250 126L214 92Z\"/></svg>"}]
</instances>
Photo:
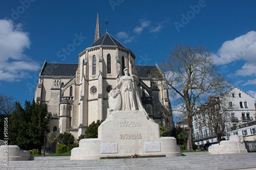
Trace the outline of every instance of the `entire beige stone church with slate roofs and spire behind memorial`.
<instances>
[{"instance_id":1,"label":"entire beige stone church with slate roofs and spire behind memorial","mask_svg":"<svg viewBox=\"0 0 256 170\"><path fill-rule=\"evenodd\" d=\"M108 93L124 75L124 68L139 78L137 87L149 116L173 129L168 90L161 78L151 76L158 65L136 65L135 54L108 30L101 36L98 16L94 43L78 57L78 64L45 60L39 72L35 100L48 106L50 131L68 130L78 138L93 121L104 120L109 108Z\"/></svg>"}]
</instances>

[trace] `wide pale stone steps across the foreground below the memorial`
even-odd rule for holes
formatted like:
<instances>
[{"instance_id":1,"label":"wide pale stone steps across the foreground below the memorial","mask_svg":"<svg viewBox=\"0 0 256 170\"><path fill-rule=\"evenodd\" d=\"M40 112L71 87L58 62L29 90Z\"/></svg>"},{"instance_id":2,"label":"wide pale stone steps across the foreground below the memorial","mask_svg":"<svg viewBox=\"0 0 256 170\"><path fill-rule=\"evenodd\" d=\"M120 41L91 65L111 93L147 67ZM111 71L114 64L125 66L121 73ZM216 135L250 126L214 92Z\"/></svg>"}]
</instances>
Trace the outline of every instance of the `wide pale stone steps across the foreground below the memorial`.
<instances>
[{"instance_id":1,"label":"wide pale stone steps across the foreground below the memorial","mask_svg":"<svg viewBox=\"0 0 256 170\"><path fill-rule=\"evenodd\" d=\"M35 157L29 161L3 162L0 169L256 169L256 153L209 155L183 153L181 157L69 160L70 157Z\"/></svg>"}]
</instances>

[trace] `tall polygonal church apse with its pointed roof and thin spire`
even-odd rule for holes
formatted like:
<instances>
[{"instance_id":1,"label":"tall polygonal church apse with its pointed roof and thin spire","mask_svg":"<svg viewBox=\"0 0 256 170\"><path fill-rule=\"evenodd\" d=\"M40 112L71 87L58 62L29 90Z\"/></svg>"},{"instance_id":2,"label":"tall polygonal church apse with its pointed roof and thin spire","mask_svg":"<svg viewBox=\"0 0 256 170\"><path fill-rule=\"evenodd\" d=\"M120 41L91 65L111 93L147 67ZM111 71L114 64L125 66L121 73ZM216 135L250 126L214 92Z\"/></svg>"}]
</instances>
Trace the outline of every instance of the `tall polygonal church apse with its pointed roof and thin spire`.
<instances>
[{"instance_id":1,"label":"tall polygonal church apse with its pointed roof and thin spire","mask_svg":"<svg viewBox=\"0 0 256 170\"><path fill-rule=\"evenodd\" d=\"M108 93L116 85L122 70L130 68L135 74L135 55L108 32L100 36L99 15L97 14L94 43L79 55L75 88L79 88L78 136L97 119L107 115Z\"/></svg>"}]
</instances>

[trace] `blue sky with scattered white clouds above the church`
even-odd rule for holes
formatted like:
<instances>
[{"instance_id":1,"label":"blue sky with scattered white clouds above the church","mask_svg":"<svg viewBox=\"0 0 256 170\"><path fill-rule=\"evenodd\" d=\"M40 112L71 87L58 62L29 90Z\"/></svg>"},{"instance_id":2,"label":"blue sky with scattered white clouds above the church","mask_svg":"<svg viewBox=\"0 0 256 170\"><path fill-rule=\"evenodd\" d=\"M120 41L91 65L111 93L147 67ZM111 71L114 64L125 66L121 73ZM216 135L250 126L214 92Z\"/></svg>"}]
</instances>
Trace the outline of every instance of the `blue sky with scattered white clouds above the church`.
<instances>
[{"instance_id":1,"label":"blue sky with scattered white clouds above the church","mask_svg":"<svg viewBox=\"0 0 256 170\"><path fill-rule=\"evenodd\" d=\"M101 35L109 33L154 65L178 41L208 47L227 78L256 96L256 1L1 1L0 93L32 101L44 63L78 63L94 41L97 6ZM65 51L66 49L66 51Z\"/></svg>"}]
</instances>

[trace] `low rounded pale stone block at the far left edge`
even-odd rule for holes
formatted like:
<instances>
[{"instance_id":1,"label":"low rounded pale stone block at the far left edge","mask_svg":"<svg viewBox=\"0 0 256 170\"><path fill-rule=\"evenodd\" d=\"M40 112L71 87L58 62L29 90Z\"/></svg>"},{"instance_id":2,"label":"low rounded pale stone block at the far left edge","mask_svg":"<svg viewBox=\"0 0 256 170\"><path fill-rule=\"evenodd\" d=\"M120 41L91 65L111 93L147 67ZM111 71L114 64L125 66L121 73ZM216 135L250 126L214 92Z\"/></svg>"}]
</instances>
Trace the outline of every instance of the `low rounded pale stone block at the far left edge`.
<instances>
[{"instance_id":1,"label":"low rounded pale stone block at the far left edge","mask_svg":"<svg viewBox=\"0 0 256 170\"><path fill-rule=\"evenodd\" d=\"M21 160L29 160L29 158L30 158L30 152L19 150L18 145L1 145L0 146L0 161L5 161L5 160L8 160L8 162L21 161Z\"/></svg>"}]
</instances>

